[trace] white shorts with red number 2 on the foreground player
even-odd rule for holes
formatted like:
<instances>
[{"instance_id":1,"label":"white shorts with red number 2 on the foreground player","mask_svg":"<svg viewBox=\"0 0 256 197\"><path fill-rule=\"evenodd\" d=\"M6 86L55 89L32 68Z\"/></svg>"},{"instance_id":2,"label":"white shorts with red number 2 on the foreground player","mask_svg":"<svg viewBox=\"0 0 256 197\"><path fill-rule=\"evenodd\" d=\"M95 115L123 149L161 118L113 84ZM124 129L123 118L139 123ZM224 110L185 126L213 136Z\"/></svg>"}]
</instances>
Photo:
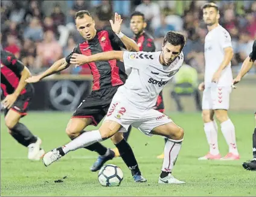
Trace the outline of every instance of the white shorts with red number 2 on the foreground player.
<instances>
[{"instance_id":1,"label":"white shorts with red number 2 on the foreground player","mask_svg":"<svg viewBox=\"0 0 256 197\"><path fill-rule=\"evenodd\" d=\"M132 102L127 101L124 96L115 94L110 104L107 115L104 118L106 120L113 120L120 124L120 132L126 132L130 125L138 128L139 131L152 136L150 132L153 128L173 122L167 115L150 108L149 110L142 110L136 107Z\"/></svg>"}]
</instances>

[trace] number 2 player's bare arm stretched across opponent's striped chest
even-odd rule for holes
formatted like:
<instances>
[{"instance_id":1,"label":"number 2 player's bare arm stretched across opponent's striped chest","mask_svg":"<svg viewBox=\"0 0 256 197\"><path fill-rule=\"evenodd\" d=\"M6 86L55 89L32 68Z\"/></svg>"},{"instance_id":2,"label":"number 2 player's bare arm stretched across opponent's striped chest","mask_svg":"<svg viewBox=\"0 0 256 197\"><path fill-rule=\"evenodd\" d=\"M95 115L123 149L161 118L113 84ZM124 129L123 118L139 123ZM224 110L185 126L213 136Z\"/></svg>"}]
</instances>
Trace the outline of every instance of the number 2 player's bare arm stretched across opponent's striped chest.
<instances>
[{"instance_id":1,"label":"number 2 player's bare arm stretched across opponent's striped chest","mask_svg":"<svg viewBox=\"0 0 256 197\"><path fill-rule=\"evenodd\" d=\"M92 61L108 61L108 60L124 61L123 55L124 55L123 51L100 52L98 54L90 55L90 56L86 56L82 54L72 54L70 63L77 64L77 66L79 66L86 63L90 63Z\"/></svg>"}]
</instances>

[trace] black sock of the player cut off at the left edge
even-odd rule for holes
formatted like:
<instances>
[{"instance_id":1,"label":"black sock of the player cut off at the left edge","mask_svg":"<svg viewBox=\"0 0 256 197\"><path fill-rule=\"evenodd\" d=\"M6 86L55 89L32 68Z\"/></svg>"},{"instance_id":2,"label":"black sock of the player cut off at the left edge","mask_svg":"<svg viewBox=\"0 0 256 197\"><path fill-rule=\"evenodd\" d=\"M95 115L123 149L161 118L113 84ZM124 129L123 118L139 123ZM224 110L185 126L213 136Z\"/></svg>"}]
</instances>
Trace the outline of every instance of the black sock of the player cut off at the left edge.
<instances>
[{"instance_id":1,"label":"black sock of the player cut off at the left edge","mask_svg":"<svg viewBox=\"0 0 256 197\"><path fill-rule=\"evenodd\" d=\"M20 122L18 122L18 124L11 129L11 136L13 136L13 138L16 139L21 145L26 147L37 141L37 137L34 136L30 130L28 130L28 128Z\"/></svg>"}]
</instances>

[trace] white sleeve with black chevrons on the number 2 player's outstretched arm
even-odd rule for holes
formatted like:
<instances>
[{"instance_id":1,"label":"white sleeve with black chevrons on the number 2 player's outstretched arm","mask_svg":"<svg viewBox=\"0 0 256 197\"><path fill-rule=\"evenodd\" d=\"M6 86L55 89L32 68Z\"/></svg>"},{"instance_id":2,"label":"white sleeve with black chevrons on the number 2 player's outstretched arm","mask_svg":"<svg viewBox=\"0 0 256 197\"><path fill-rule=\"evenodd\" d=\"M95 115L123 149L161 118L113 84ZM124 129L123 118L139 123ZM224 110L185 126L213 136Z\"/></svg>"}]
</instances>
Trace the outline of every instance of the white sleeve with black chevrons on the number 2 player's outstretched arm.
<instances>
[{"instance_id":1,"label":"white sleeve with black chevrons on the number 2 player's outstretched arm","mask_svg":"<svg viewBox=\"0 0 256 197\"><path fill-rule=\"evenodd\" d=\"M153 55L151 52L129 52L124 51L124 67L132 67L134 69L145 69L149 66L149 61L153 60Z\"/></svg>"}]
</instances>

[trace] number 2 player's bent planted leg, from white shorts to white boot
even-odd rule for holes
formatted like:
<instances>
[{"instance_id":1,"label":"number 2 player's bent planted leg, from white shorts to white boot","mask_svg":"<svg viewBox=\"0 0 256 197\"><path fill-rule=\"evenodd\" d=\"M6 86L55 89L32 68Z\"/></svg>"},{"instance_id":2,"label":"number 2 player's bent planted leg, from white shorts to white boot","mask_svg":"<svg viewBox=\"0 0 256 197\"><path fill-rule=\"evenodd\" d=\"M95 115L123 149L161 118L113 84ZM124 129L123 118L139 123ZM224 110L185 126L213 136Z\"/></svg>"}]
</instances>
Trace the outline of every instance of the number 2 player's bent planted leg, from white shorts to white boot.
<instances>
[{"instance_id":1,"label":"number 2 player's bent planted leg, from white shorts to white boot","mask_svg":"<svg viewBox=\"0 0 256 197\"><path fill-rule=\"evenodd\" d=\"M168 116L153 109L147 111L147 114L142 114L142 117L144 117L144 120L138 127L142 133L149 136L153 134L164 136L168 139L164 147L164 161L158 183L185 183L184 181L177 180L171 175L181 149L184 130L174 124Z\"/></svg>"}]
</instances>

